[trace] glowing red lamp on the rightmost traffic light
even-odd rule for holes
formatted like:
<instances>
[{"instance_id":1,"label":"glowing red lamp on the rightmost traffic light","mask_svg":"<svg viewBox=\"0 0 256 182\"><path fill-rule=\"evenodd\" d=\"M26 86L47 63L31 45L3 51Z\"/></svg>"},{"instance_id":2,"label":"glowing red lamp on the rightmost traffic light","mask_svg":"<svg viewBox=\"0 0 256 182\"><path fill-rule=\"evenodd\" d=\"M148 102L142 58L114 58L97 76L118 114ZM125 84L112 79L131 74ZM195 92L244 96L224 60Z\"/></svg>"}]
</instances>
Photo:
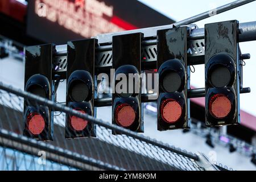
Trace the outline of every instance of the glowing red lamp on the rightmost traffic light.
<instances>
[{"instance_id":1,"label":"glowing red lamp on the rightmost traffic light","mask_svg":"<svg viewBox=\"0 0 256 182\"><path fill-rule=\"evenodd\" d=\"M231 110L231 102L228 97L223 94L215 94L210 98L209 110L210 114L216 119L225 118Z\"/></svg>"}]
</instances>

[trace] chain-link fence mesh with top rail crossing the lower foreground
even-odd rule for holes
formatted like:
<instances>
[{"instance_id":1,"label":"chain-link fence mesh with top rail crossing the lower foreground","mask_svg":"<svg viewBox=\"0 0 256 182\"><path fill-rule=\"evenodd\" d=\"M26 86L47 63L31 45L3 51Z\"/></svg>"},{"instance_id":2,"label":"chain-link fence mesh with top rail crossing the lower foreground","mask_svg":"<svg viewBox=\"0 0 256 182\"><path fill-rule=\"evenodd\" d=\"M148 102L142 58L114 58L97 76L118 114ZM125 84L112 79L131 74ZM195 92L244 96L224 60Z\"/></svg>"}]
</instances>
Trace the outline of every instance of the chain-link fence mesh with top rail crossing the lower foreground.
<instances>
[{"instance_id":1,"label":"chain-link fence mesh with top rail crossing the lower foreground","mask_svg":"<svg viewBox=\"0 0 256 182\"><path fill-rule=\"evenodd\" d=\"M97 137L65 139L65 115L75 114L88 123L92 117L22 90L3 90L1 86L6 85L0 83L1 170L204 170L196 154L97 119L93 121ZM53 141L42 142L22 135L27 96L38 107L58 109L53 119ZM125 132L113 135L112 129Z\"/></svg>"}]
</instances>

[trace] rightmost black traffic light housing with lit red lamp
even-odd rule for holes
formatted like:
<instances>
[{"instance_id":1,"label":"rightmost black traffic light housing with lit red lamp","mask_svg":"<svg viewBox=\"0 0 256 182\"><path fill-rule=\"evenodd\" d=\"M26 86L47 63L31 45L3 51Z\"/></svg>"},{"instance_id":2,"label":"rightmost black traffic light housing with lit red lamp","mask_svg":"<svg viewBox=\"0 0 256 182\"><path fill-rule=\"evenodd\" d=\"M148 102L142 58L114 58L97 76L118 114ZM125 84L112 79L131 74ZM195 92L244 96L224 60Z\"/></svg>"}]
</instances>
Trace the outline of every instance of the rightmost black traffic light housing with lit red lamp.
<instances>
[{"instance_id":1,"label":"rightmost black traffic light housing with lit red lamp","mask_svg":"<svg viewBox=\"0 0 256 182\"><path fill-rule=\"evenodd\" d=\"M205 24L205 121L240 123L238 21Z\"/></svg>"}]
</instances>

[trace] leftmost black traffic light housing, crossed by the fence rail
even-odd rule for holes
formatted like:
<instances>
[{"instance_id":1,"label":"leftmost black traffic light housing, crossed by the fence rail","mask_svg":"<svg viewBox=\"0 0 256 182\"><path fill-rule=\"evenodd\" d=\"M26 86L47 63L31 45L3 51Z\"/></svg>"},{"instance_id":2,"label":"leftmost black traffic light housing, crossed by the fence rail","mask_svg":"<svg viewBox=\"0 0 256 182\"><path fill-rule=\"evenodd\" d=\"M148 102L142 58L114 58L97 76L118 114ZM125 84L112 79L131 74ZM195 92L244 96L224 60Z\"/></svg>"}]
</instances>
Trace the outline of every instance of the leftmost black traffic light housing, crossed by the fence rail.
<instances>
[{"instance_id":1,"label":"leftmost black traffic light housing, crossed by the fence rail","mask_svg":"<svg viewBox=\"0 0 256 182\"><path fill-rule=\"evenodd\" d=\"M55 46L45 44L26 47L24 90L54 100L52 81L52 52ZM27 137L52 140L53 111L39 103L24 100L24 131Z\"/></svg>"}]
</instances>

